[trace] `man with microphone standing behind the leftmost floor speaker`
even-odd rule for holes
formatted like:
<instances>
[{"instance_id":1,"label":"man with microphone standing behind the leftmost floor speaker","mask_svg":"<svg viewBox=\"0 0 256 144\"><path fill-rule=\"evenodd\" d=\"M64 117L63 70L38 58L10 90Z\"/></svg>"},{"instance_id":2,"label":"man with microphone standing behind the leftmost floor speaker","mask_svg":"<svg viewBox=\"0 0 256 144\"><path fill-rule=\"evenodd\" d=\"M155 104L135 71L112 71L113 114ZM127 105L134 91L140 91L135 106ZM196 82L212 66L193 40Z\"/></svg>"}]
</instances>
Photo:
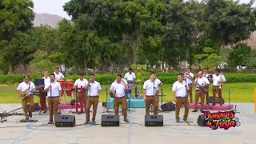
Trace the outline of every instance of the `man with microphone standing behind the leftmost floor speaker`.
<instances>
[{"instance_id":1,"label":"man with microphone standing behind the leftmost floor speaker","mask_svg":"<svg viewBox=\"0 0 256 144\"><path fill-rule=\"evenodd\" d=\"M50 74L50 82L45 84L43 92L47 92L48 106L50 118L48 124L54 124L58 115L58 101L62 95L61 84L55 81L55 74ZM53 121L54 115L54 121Z\"/></svg>"}]
</instances>

